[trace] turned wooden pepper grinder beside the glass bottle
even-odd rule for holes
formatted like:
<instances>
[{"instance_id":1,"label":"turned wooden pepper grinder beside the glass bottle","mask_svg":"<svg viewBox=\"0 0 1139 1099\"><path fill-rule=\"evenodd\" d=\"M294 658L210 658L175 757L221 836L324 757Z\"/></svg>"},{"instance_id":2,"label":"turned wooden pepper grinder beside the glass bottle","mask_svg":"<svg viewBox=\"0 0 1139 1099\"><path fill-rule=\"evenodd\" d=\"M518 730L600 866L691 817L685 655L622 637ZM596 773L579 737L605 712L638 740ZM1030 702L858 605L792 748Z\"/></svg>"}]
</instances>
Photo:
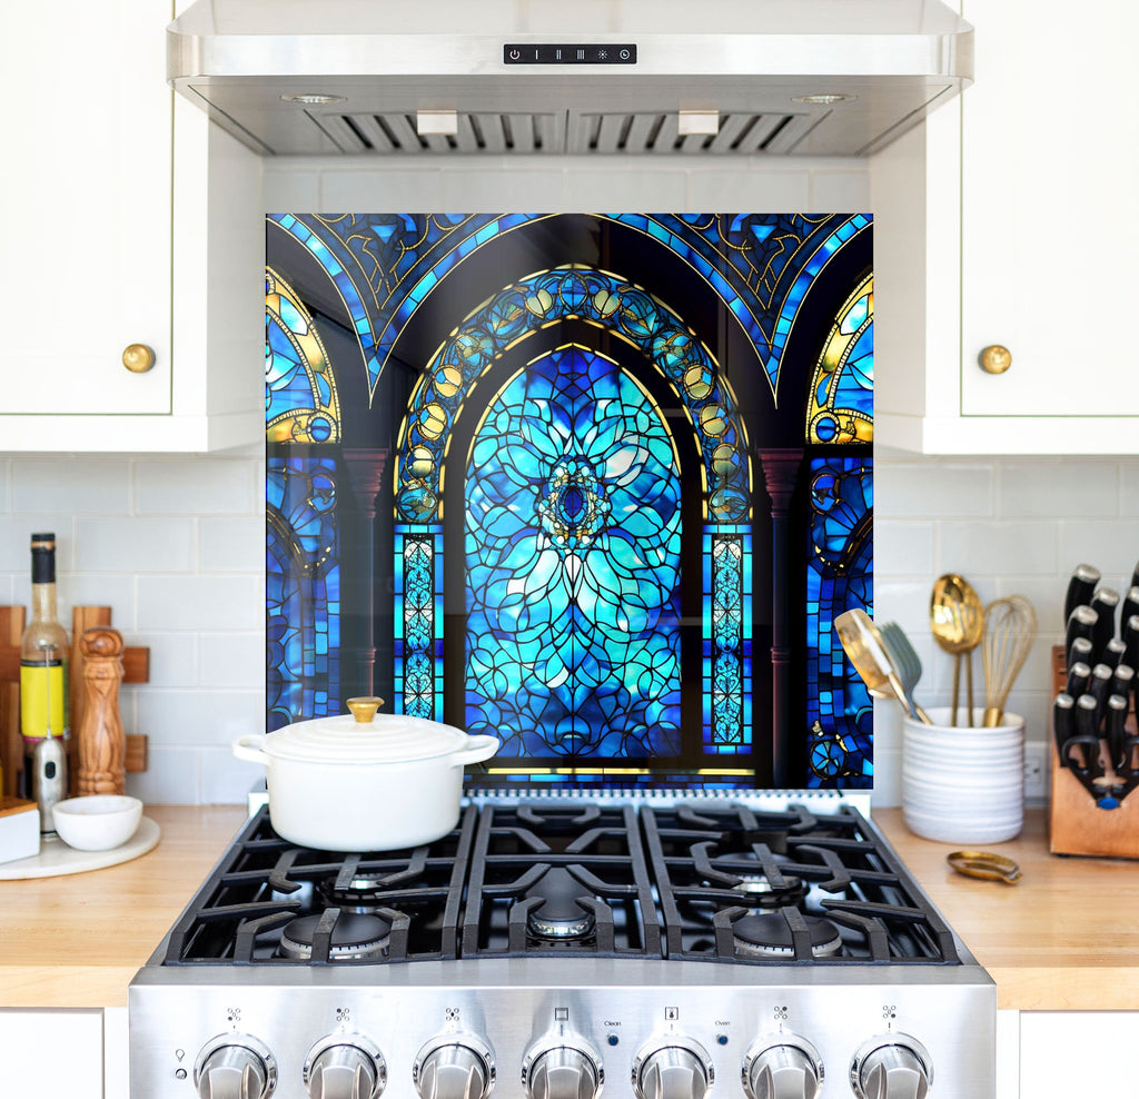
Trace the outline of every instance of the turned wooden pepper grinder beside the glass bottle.
<instances>
[{"instance_id":1,"label":"turned wooden pepper grinder beside the glass bottle","mask_svg":"<svg viewBox=\"0 0 1139 1099\"><path fill-rule=\"evenodd\" d=\"M87 704L79 728L76 789L85 794L122 794L126 773L126 738L118 712L123 680L123 635L110 626L84 630L79 641L83 656Z\"/></svg>"}]
</instances>

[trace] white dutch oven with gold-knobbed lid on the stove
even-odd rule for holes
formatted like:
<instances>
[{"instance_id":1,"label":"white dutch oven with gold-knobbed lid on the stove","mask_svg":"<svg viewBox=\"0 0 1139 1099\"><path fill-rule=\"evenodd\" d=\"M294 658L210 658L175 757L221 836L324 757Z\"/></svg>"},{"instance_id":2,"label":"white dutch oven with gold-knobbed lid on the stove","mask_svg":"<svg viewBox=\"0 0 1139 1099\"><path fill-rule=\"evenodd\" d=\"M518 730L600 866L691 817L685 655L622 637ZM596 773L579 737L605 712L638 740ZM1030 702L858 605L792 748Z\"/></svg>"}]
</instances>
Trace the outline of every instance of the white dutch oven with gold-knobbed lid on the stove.
<instances>
[{"instance_id":1,"label":"white dutch oven with gold-knobbed lid on the stove","mask_svg":"<svg viewBox=\"0 0 1139 1099\"><path fill-rule=\"evenodd\" d=\"M437 721L351 714L238 737L233 755L265 768L269 819L292 843L322 851L392 851L445 836L459 820L462 769L489 760L498 737Z\"/></svg>"}]
</instances>

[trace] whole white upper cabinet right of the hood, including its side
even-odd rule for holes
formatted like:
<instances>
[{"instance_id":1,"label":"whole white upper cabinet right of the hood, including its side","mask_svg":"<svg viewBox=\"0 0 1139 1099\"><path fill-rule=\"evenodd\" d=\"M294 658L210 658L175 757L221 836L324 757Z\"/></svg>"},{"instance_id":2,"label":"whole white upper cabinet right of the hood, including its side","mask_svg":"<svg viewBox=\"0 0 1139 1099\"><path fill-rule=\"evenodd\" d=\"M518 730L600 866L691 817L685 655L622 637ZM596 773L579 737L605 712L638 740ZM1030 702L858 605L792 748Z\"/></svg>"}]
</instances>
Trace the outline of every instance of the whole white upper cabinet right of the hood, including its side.
<instances>
[{"instance_id":1,"label":"whole white upper cabinet right of the hood, including its side","mask_svg":"<svg viewBox=\"0 0 1139 1099\"><path fill-rule=\"evenodd\" d=\"M871 163L876 436L1134 453L1139 8L966 0L976 81ZM924 278L921 273L924 272ZM1011 352L1003 374L982 351Z\"/></svg>"}]
</instances>

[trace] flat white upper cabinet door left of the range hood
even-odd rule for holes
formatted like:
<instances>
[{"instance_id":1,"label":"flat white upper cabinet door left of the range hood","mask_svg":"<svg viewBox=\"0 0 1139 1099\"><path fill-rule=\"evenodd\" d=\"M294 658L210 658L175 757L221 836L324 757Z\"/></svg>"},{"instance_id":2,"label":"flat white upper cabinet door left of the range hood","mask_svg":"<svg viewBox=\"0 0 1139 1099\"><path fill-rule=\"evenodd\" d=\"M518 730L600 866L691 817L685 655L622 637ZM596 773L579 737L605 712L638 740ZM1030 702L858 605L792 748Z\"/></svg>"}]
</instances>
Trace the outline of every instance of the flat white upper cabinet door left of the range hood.
<instances>
[{"instance_id":1,"label":"flat white upper cabinet door left of the range hood","mask_svg":"<svg viewBox=\"0 0 1139 1099\"><path fill-rule=\"evenodd\" d=\"M0 409L169 413L171 5L57 0L10 15ZM149 371L124 368L131 344L154 350Z\"/></svg>"}]
</instances>

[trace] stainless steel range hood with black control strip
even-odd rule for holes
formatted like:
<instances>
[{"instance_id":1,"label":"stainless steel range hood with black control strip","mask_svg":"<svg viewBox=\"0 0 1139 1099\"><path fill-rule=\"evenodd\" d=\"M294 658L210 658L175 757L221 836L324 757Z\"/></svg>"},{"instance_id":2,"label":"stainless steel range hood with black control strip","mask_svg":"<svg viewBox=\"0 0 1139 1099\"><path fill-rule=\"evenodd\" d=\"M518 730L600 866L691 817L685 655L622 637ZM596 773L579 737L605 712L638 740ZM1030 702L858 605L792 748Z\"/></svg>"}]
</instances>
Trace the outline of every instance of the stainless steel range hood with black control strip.
<instances>
[{"instance_id":1,"label":"stainless steel range hood with black control strip","mask_svg":"<svg viewBox=\"0 0 1139 1099\"><path fill-rule=\"evenodd\" d=\"M862 156L973 76L939 0L198 0L167 77L265 155Z\"/></svg>"}]
</instances>

